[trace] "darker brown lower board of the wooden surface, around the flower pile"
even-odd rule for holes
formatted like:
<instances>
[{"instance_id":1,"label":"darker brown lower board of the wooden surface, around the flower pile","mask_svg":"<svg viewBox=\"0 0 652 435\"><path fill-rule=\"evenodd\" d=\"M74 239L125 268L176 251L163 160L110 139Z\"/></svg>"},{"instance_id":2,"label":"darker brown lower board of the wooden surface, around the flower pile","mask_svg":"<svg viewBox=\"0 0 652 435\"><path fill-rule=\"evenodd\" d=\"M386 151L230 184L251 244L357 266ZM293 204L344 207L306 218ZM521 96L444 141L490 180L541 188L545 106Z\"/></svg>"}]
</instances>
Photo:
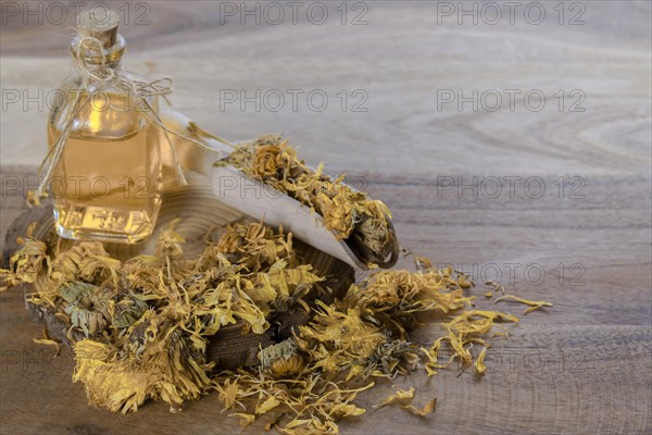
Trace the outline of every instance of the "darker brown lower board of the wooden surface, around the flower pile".
<instances>
[{"instance_id":1,"label":"darker brown lower board of the wooden surface, around the flower pile","mask_svg":"<svg viewBox=\"0 0 652 435\"><path fill-rule=\"evenodd\" d=\"M543 283L523 274L503 283L510 293L551 300L555 306L528 314L509 340L496 341L488 356L489 372L481 380L472 373L457 377L454 370L431 380L423 372L397 378L397 385L417 388L419 402L438 397L431 417L418 419L393 408L369 410L342 422L343 433L396 433L399 428L409 434L649 432L649 184L644 177L589 178L586 199L566 203L559 198L523 196L428 201L437 196L436 179L373 178L368 189L393 210L403 246L434 259L446 258L469 272L475 264L480 271L498 264L503 273L507 263L521 264L521 271L541 265L552 275ZM10 196L3 200L3 216L24 208L18 195ZM577 283L560 284L554 270L559 262L580 262L586 273ZM481 294L481 288L475 293ZM20 291L10 290L0 298L0 405L2 414L11 415L2 422L8 433L45 427L68 434L142 433L155 421L161 433L204 433L211 427L218 434L254 434L264 424L242 431L235 419L220 412L215 395L189 403L180 415L167 413L162 403L148 403L127 417L90 409L83 387L70 382L70 352L53 358L51 349L32 343L40 326L25 312ZM496 308L485 300L478 307ZM499 307L514 314L524 309ZM439 334L436 325L426 324L414 337L427 344ZM389 394L390 385L380 383L361 403L371 408Z\"/></svg>"}]
</instances>

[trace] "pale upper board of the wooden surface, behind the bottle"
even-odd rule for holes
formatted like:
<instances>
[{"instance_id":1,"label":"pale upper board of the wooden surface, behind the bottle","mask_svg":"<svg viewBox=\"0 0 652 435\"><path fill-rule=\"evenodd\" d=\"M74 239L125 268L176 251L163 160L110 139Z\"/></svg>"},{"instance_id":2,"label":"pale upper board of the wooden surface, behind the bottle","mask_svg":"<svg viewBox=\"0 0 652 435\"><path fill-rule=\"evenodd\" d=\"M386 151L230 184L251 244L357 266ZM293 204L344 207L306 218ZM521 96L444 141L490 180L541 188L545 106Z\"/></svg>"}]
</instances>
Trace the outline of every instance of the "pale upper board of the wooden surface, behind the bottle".
<instances>
[{"instance_id":1,"label":"pale upper board of the wooden surface, behind the bottle","mask_svg":"<svg viewBox=\"0 0 652 435\"><path fill-rule=\"evenodd\" d=\"M129 50L125 66L173 77L175 108L227 139L284 132L308 161L324 160L331 173L649 172L649 2L581 2L584 25L559 25L552 4L541 25L528 24L524 8L514 25L505 21L507 11L498 25L468 18L459 25L456 16L439 20L437 2L428 1L366 2L367 25L341 25L339 3L324 25L306 21L308 5L296 25L255 25L255 17L242 25L240 15L221 24L224 15L211 1L149 3L151 24L121 27ZM350 23L355 11L349 12ZM47 95L70 70L74 22L39 26L21 18L0 29L2 87ZM288 89L304 92L296 111ZM336 95L342 89L344 111ZM353 111L363 99L352 95L356 89L366 92L366 112ZM465 96L497 89L505 101L496 111L468 103L439 110L438 91L447 89ZM522 92L514 111L504 89ZM563 111L554 97L560 89ZM567 95L574 89L586 96L585 112L568 112L578 100ZM242 110L239 97L234 103L220 98L231 90L249 97L279 90L286 104L276 112L265 109L276 100ZM324 111L310 110L312 90L327 95ZM524 107L530 90L546 95L541 111ZM23 102L8 103L0 121L4 164L36 164L46 148L47 107Z\"/></svg>"}]
</instances>

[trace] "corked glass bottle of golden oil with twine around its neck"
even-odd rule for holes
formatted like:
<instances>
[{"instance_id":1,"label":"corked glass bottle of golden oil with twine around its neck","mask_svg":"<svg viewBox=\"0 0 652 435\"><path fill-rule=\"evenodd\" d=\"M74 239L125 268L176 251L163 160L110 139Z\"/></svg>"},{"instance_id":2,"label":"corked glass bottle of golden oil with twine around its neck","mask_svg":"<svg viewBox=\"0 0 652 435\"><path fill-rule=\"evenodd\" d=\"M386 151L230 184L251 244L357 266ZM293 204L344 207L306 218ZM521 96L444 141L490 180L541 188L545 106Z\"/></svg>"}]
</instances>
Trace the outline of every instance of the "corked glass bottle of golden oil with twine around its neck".
<instances>
[{"instance_id":1,"label":"corked glass bottle of golden oil with twine around its neck","mask_svg":"<svg viewBox=\"0 0 652 435\"><path fill-rule=\"evenodd\" d=\"M160 135L148 116L158 103L125 88L125 78L147 80L121 70L126 45L117 14L108 14L79 17L76 67L54 94L50 151L65 141L50 191L60 236L134 244L152 234L161 208Z\"/></svg>"}]
</instances>

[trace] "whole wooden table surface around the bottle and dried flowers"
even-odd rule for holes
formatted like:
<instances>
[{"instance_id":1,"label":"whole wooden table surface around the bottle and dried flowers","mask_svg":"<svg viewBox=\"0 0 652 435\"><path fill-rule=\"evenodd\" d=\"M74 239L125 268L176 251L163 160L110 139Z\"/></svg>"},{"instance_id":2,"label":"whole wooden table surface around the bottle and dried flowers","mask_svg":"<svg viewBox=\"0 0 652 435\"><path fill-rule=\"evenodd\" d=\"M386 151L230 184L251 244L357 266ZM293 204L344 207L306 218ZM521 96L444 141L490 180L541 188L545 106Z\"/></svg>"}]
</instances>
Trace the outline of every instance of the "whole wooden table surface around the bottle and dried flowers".
<instances>
[{"instance_id":1,"label":"whole wooden table surface around the bottle and dried flowers","mask_svg":"<svg viewBox=\"0 0 652 435\"><path fill-rule=\"evenodd\" d=\"M17 12L7 4L2 233L34 187L47 95L70 69L73 23L57 23L47 3L29 3L41 4L42 25L23 2ZM373 411L391 387L380 383L342 433L652 432L650 2L523 2L514 24L496 2L494 25L496 10L479 2L260 3L260 25L242 2L111 4L129 11L127 66L174 77L176 109L204 128L231 139L284 132L309 162L383 199L403 247L554 302L494 341L481 380L454 371L394 380L416 387L417 403L437 396L431 415ZM285 16L274 24L278 7ZM322 7L328 17L318 24ZM126 417L89 408L83 385L71 383L70 352L53 358L32 341L40 326L20 291L0 298L2 434L261 430L240 428L216 395L180 414L156 402ZM415 339L438 334L425 325Z\"/></svg>"}]
</instances>

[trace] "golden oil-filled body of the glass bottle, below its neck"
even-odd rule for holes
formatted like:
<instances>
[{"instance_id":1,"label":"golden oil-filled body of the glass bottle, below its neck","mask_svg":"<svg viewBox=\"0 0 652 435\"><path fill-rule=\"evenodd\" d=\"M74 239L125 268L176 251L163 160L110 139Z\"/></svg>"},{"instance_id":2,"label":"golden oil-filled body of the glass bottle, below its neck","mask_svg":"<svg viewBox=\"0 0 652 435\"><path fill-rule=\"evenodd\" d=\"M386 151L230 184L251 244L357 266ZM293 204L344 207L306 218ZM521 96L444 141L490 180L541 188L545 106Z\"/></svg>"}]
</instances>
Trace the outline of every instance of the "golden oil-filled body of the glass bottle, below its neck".
<instances>
[{"instance_id":1,"label":"golden oil-filled body of the glass bottle, below its neck","mask_svg":"<svg viewBox=\"0 0 652 435\"><path fill-rule=\"evenodd\" d=\"M66 120L74 121L50 184L59 235L128 244L147 239L161 208L156 126L139 100L105 84L99 90L85 87L79 73L60 90L48 120L50 148ZM155 108L155 100L149 102Z\"/></svg>"}]
</instances>

